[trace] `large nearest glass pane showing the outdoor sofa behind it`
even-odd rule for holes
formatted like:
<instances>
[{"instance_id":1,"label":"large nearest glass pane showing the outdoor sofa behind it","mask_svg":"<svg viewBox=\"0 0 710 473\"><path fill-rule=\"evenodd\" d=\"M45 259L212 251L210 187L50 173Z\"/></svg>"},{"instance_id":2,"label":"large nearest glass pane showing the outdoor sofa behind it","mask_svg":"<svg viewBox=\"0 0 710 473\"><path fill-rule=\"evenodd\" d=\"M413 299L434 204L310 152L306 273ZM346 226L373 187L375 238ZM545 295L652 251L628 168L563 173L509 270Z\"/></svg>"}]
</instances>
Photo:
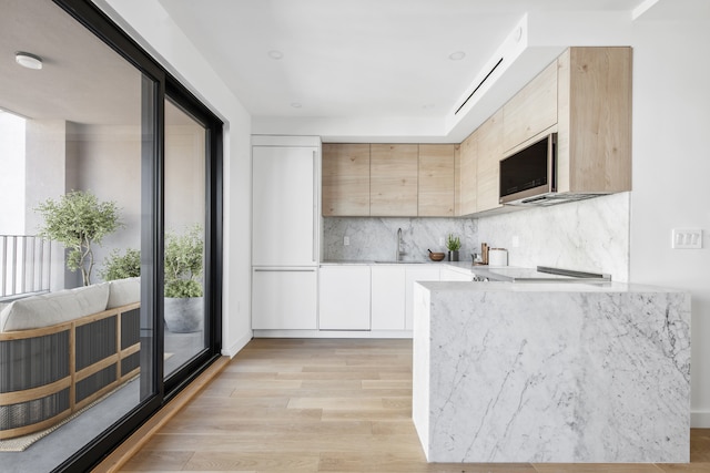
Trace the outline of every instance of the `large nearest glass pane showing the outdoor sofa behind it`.
<instances>
[{"instance_id":1,"label":"large nearest glass pane showing the outdoor sofa behind it","mask_svg":"<svg viewBox=\"0 0 710 473\"><path fill-rule=\"evenodd\" d=\"M0 84L0 470L51 471L158 392L155 84L54 3L24 0L2 2ZM38 292L53 300L30 308Z\"/></svg>"}]
</instances>

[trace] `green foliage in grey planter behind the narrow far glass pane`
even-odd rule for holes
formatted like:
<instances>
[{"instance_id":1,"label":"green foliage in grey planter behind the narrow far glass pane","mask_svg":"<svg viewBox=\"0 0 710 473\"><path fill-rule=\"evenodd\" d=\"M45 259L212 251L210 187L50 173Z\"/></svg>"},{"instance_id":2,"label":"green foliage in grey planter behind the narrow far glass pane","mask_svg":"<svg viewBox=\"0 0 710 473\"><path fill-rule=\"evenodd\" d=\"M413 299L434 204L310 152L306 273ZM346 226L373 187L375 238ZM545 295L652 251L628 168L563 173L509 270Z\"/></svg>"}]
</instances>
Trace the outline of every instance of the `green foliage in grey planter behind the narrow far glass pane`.
<instances>
[{"instance_id":1,"label":"green foliage in grey planter behind the narrow far glass pane","mask_svg":"<svg viewBox=\"0 0 710 473\"><path fill-rule=\"evenodd\" d=\"M201 297L204 259L202 227L165 234L165 297Z\"/></svg>"}]
</instances>

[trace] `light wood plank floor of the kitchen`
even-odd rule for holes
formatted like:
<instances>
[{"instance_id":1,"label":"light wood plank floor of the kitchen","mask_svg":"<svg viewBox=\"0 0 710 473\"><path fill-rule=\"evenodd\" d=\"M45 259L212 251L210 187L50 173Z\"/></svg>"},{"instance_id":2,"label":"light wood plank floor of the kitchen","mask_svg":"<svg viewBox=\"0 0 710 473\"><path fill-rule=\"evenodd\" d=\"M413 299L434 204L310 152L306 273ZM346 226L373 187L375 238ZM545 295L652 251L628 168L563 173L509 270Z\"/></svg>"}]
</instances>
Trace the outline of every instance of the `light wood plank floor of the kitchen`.
<instances>
[{"instance_id":1,"label":"light wood plank floor of the kitchen","mask_svg":"<svg viewBox=\"0 0 710 473\"><path fill-rule=\"evenodd\" d=\"M427 464L410 419L410 340L253 340L123 472L710 472L689 465Z\"/></svg>"}]
</instances>

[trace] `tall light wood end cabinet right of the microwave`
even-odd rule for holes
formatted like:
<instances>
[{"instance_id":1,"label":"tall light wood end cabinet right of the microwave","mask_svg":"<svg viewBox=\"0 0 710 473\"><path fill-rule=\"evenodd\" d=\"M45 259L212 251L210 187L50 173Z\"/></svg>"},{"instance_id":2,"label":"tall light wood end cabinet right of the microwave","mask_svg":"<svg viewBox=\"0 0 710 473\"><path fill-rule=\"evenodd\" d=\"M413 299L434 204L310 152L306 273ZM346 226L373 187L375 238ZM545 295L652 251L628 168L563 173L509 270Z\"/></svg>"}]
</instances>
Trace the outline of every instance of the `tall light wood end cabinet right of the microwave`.
<instances>
[{"instance_id":1,"label":"tall light wood end cabinet right of the microwave","mask_svg":"<svg viewBox=\"0 0 710 473\"><path fill-rule=\"evenodd\" d=\"M631 191L631 48L558 58L557 189Z\"/></svg>"}]
</instances>

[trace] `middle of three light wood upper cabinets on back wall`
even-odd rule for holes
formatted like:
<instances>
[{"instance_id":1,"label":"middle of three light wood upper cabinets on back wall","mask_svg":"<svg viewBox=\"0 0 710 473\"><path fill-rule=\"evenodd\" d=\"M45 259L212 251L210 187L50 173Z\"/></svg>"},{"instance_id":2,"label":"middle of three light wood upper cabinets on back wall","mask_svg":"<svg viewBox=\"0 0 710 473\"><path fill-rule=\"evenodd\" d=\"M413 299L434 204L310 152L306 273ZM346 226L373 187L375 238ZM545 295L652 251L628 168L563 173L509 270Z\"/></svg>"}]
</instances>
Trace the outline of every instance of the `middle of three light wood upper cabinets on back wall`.
<instances>
[{"instance_id":1,"label":"middle of three light wood upper cabinets on back wall","mask_svg":"<svg viewBox=\"0 0 710 473\"><path fill-rule=\"evenodd\" d=\"M372 144L369 215L417 215L418 151L416 144Z\"/></svg>"}]
</instances>

